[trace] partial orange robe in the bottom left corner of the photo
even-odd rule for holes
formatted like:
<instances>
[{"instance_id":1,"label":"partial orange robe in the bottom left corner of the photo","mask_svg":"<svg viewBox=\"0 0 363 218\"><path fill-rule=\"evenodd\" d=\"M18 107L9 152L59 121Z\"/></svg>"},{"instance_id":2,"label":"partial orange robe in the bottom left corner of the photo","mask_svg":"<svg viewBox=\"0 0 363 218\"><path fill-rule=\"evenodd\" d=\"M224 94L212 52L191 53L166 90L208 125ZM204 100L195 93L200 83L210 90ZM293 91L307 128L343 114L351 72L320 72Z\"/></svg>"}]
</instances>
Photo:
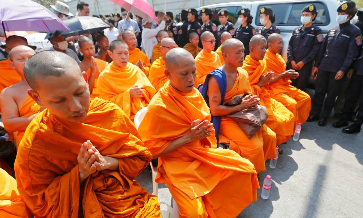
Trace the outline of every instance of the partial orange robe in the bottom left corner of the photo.
<instances>
[{"instance_id":1,"label":"partial orange robe in the bottom left corner of the photo","mask_svg":"<svg viewBox=\"0 0 363 218\"><path fill-rule=\"evenodd\" d=\"M16 180L0 168L0 217L29 218L30 211L16 188Z\"/></svg>"}]
</instances>

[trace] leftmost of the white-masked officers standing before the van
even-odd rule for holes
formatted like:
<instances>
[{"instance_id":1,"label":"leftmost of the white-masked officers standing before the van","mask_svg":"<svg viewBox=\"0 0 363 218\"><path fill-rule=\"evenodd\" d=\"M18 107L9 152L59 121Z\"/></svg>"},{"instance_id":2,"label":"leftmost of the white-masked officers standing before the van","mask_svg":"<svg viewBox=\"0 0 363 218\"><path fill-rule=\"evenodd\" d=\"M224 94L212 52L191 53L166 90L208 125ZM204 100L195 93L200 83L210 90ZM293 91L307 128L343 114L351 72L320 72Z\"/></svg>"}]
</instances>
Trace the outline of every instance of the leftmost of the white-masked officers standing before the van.
<instances>
[{"instance_id":1,"label":"leftmost of the white-masked officers standing before the van","mask_svg":"<svg viewBox=\"0 0 363 218\"><path fill-rule=\"evenodd\" d=\"M256 28L254 28L251 23L253 17L250 14L250 10L247 8L242 8L238 11L238 16L242 18L242 24L236 29L236 36L245 46L245 57L249 54L249 41L252 36L256 35Z\"/></svg>"}]
</instances>

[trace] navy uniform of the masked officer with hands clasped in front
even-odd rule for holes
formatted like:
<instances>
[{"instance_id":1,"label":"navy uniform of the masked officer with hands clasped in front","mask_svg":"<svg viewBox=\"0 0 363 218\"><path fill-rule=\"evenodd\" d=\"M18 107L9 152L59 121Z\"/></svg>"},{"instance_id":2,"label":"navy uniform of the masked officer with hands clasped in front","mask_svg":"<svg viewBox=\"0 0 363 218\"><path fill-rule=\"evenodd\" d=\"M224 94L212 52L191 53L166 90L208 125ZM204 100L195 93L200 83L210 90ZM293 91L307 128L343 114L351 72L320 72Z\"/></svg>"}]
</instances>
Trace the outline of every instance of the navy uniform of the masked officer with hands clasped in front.
<instances>
[{"instance_id":1,"label":"navy uniform of the masked officer with hands clasped in front","mask_svg":"<svg viewBox=\"0 0 363 218\"><path fill-rule=\"evenodd\" d=\"M315 25L305 28L303 25L295 28L291 34L289 46L287 48L288 69L293 69L291 61L296 63L302 61L304 66L301 67L299 77L291 79L291 85L298 89L304 89L311 77L313 60L318 54L321 44L324 40L323 31Z\"/></svg>"}]
</instances>

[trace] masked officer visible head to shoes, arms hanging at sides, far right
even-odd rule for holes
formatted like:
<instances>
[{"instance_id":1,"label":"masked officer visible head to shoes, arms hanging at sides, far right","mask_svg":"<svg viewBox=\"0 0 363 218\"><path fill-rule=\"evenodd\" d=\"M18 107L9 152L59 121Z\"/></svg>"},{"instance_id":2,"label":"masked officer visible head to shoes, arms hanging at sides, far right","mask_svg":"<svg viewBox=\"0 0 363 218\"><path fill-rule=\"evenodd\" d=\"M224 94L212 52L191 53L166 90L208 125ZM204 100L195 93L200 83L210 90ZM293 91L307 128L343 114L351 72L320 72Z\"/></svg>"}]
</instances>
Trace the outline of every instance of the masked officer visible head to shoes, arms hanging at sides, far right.
<instances>
[{"instance_id":1,"label":"masked officer visible head to shoes, arms hanging at sides, far right","mask_svg":"<svg viewBox=\"0 0 363 218\"><path fill-rule=\"evenodd\" d=\"M340 5L337 11L339 25L326 34L311 71L312 75L317 73L318 76L315 82L313 109L307 122L319 119L319 126L326 125L327 118L334 107L335 98L346 78L344 74L358 56L359 47L362 45L362 33L356 26L350 24L350 20L357 12L355 3L347 1ZM323 113L319 117L323 104Z\"/></svg>"}]
</instances>

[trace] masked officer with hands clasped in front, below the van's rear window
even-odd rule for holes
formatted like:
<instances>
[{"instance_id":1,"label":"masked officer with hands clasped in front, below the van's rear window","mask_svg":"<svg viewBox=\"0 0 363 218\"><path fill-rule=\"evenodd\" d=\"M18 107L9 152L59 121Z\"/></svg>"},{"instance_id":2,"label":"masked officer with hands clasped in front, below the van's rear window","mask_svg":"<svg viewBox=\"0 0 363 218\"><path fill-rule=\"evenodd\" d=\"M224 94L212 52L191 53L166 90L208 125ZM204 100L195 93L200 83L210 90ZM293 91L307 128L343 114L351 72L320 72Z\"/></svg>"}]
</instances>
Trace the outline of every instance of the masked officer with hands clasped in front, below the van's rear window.
<instances>
[{"instance_id":1,"label":"masked officer with hands clasped in front, below the van's rear window","mask_svg":"<svg viewBox=\"0 0 363 218\"><path fill-rule=\"evenodd\" d=\"M318 54L324 40L323 31L313 24L317 16L317 8L310 4L302 9L303 25L295 28L291 34L287 48L288 68L299 72L299 77L291 79L291 85L305 89L313 68L313 60Z\"/></svg>"}]
</instances>

